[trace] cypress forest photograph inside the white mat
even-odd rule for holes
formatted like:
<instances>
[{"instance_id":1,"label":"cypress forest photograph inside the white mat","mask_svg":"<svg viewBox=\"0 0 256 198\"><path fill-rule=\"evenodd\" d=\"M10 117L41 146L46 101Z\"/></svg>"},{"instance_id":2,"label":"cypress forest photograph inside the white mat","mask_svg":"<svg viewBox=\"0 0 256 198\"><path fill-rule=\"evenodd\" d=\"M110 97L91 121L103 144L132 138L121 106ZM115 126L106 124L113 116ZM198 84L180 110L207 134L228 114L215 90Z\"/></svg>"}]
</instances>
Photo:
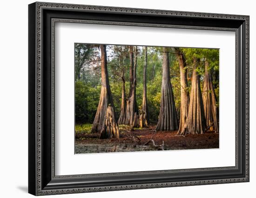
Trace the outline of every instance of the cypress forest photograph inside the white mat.
<instances>
[{"instance_id":1,"label":"cypress forest photograph inside the white mat","mask_svg":"<svg viewBox=\"0 0 256 198\"><path fill-rule=\"evenodd\" d=\"M219 86L219 49L74 43L74 152L217 149Z\"/></svg>"}]
</instances>

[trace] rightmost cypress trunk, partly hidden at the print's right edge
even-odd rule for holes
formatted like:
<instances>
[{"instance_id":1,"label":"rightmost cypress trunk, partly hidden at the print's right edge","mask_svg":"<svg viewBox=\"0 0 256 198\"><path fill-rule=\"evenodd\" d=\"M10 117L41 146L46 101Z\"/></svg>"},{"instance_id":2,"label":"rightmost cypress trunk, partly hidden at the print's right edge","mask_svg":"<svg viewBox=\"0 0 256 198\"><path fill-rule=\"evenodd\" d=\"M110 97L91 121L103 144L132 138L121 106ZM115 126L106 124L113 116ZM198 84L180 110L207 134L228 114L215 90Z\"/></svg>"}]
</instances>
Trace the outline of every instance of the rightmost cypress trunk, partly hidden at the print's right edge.
<instances>
[{"instance_id":1,"label":"rightmost cypress trunk, partly hidden at the print's right edge","mask_svg":"<svg viewBox=\"0 0 256 198\"><path fill-rule=\"evenodd\" d=\"M211 131L219 132L218 115L216 106L216 95L212 83L211 71L209 70L209 62L205 60L205 77L203 85L203 106L206 127Z\"/></svg>"}]
</instances>

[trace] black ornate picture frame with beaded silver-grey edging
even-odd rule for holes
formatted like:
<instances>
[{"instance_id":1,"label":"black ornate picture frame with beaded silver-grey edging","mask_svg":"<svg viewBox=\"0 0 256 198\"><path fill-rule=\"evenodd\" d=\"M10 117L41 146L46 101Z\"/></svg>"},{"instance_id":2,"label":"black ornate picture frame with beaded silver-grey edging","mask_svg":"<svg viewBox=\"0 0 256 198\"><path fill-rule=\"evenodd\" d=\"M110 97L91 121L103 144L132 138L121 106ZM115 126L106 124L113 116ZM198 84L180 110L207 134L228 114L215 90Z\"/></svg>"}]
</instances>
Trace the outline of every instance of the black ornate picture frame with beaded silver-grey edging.
<instances>
[{"instance_id":1,"label":"black ornate picture frame with beaded silver-grey edging","mask_svg":"<svg viewBox=\"0 0 256 198\"><path fill-rule=\"evenodd\" d=\"M249 16L35 2L28 6L28 192L33 195L249 182ZM55 176L55 22L236 33L236 165ZM86 156L85 156L86 157Z\"/></svg>"}]
</instances>

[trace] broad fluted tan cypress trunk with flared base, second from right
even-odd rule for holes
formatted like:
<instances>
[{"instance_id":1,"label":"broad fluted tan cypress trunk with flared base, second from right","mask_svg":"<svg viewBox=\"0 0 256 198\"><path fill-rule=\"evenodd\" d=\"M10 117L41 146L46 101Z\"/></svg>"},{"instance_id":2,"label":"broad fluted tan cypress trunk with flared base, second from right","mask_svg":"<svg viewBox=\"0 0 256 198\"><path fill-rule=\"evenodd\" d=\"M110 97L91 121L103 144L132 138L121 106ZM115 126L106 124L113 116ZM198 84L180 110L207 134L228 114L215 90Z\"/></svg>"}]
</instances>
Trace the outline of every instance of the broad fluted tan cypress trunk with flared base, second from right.
<instances>
[{"instance_id":1,"label":"broad fluted tan cypress trunk with flared base, second from right","mask_svg":"<svg viewBox=\"0 0 256 198\"><path fill-rule=\"evenodd\" d=\"M205 117L203 110L202 92L199 75L196 72L197 60L194 59L192 86L190 92L189 113L181 135L203 134L205 131Z\"/></svg>"}]
</instances>

